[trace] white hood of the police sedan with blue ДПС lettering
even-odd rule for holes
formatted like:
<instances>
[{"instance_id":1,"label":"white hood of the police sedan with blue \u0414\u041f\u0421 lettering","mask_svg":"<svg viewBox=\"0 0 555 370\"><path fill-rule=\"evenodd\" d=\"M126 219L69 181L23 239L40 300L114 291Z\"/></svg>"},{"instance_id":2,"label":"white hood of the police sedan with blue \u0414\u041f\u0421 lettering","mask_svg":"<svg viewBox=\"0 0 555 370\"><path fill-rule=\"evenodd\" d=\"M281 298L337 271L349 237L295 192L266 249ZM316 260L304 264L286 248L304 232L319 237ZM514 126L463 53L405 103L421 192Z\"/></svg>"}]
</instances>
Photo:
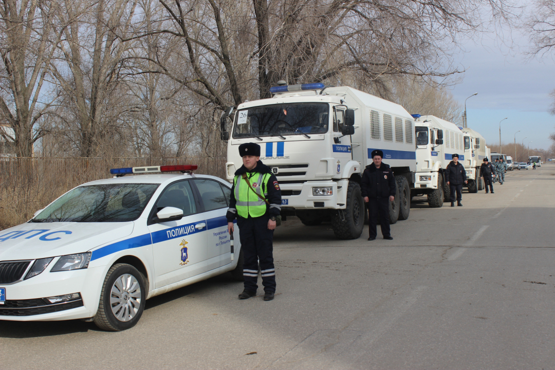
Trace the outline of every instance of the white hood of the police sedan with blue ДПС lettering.
<instances>
[{"instance_id":1,"label":"white hood of the police sedan with blue \u0414\u041f\u0421 lettering","mask_svg":"<svg viewBox=\"0 0 555 370\"><path fill-rule=\"evenodd\" d=\"M0 261L30 260L89 251L128 236L134 222L44 222L0 231Z\"/></svg>"}]
</instances>

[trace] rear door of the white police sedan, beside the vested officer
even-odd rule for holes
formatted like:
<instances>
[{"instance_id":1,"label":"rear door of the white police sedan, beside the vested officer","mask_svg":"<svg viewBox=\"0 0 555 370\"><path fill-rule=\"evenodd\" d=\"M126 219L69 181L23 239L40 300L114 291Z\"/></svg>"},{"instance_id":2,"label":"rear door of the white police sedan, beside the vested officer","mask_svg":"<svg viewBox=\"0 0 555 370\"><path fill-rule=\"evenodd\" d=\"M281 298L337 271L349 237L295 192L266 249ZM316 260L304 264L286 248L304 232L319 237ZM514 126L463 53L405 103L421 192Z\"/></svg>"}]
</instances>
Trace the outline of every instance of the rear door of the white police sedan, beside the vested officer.
<instances>
[{"instance_id":1,"label":"rear door of the white police sedan, beside the vested officer","mask_svg":"<svg viewBox=\"0 0 555 370\"><path fill-rule=\"evenodd\" d=\"M194 179L199 199L203 205L208 228L208 269L213 270L231 263L230 237L228 233L229 196L231 189L210 179ZM234 232L234 236L239 236ZM239 240L235 241L239 244Z\"/></svg>"}]
</instances>

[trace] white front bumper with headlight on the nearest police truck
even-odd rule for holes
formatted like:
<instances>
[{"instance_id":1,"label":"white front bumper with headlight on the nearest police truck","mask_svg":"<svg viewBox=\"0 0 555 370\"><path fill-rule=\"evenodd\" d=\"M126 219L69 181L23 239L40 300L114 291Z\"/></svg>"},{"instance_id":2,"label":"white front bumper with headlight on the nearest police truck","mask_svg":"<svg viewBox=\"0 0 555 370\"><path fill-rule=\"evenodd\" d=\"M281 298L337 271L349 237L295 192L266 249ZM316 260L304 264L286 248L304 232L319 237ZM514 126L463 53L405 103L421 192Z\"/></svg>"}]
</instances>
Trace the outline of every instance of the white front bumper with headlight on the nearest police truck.
<instances>
[{"instance_id":1,"label":"white front bumper with headlight on the nearest police truck","mask_svg":"<svg viewBox=\"0 0 555 370\"><path fill-rule=\"evenodd\" d=\"M349 180L280 184L281 207L292 209L345 209ZM312 195L313 187L331 187L331 195Z\"/></svg>"}]
</instances>

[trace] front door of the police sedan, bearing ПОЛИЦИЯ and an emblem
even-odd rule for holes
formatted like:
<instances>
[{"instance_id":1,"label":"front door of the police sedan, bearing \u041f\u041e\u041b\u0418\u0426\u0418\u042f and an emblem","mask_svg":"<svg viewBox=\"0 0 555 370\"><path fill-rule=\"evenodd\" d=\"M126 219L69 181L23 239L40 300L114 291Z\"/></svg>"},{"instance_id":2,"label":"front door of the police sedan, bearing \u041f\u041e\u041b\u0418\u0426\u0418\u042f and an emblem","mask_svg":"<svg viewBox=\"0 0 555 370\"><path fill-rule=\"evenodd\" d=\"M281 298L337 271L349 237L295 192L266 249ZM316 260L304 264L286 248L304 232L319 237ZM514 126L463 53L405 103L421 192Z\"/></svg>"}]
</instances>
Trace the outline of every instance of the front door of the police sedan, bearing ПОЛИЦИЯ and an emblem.
<instances>
[{"instance_id":1,"label":"front door of the police sedan, bearing \u041f\u041e\u041b\u0418\u0426\u0418\u042f and an emblem","mask_svg":"<svg viewBox=\"0 0 555 370\"><path fill-rule=\"evenodd\" d=\"M156 213L164 207L183 210L183 218L154 223ZM206 220L190 180L164 189L150 214L148 228L152 235L156 288L207 271Z\"/></svg>"}]
</instances>

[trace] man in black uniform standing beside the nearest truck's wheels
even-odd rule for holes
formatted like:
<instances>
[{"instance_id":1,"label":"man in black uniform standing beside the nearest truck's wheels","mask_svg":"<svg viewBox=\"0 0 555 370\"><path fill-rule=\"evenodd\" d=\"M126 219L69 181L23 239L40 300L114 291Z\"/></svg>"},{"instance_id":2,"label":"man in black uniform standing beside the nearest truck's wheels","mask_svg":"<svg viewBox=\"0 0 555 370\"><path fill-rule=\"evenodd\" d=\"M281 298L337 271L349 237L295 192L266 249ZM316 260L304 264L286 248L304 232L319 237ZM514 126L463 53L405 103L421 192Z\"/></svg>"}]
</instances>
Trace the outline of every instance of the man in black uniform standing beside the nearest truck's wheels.
<instances>
[{"instance_id":1,"label":"man in black uniform standing beside the nearest truck's wheels","mask_svg":"<svg viewBox=\"0 0 555 370\"><path fill-rule=\"evenodd\" d=\"M391 167L382 163L384 152L372 151L373 163L366 166L362 173L361 192L368 204L369 222L368 240L375 240L377 236L376 222L380 215L380 226L384 239L393 240L389 226L389 203L395 200L395 178Z\"/></svg>"}]
</instances>

